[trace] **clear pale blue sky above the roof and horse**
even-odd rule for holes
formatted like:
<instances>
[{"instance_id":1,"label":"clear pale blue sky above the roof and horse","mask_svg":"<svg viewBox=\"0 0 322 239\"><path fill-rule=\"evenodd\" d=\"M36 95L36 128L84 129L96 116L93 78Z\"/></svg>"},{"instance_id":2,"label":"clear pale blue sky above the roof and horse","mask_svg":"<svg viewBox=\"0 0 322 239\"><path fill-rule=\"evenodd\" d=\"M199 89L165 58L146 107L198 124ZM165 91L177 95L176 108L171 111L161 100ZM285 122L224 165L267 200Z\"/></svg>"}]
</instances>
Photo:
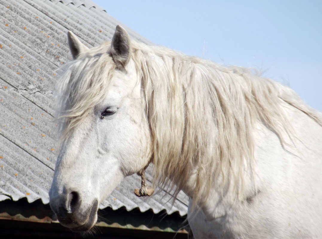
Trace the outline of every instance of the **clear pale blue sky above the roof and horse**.
<instances>
[{"instance_id":1,"label":"clear pale blue sky above the roof and horse","mask_svg":"<svg viewBox=\"0 0 322 239\"><path fill-rule=\"evenodd\" d=\"M267 70L322 111L321 0L93 1L156 45Z\"/></svg>"}]
</instances>

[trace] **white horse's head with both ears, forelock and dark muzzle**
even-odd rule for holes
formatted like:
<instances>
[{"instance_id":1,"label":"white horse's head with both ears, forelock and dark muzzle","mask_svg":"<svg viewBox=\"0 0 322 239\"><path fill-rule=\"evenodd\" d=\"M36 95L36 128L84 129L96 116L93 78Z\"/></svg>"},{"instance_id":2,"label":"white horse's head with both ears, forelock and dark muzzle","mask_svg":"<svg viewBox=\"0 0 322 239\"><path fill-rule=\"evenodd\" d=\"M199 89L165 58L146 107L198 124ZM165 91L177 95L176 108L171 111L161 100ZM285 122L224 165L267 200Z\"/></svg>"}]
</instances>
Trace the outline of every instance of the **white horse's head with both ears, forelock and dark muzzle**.
<instances>
[{"instance_id":1,"label":"white horse's head with both ears, forelock and dark muzzle","mask_svg":"<svg viewBox=\"0 0 322 239\"><path fill-rule=\"evenodd\" d=\"M151 158L146 100L128 33L88 49L69 32L74 61L62 76L62 142L50 206L63 226L90 229L99 204ZM103 63L103 64L102 64Z\"/></svg>"}]
</instances>

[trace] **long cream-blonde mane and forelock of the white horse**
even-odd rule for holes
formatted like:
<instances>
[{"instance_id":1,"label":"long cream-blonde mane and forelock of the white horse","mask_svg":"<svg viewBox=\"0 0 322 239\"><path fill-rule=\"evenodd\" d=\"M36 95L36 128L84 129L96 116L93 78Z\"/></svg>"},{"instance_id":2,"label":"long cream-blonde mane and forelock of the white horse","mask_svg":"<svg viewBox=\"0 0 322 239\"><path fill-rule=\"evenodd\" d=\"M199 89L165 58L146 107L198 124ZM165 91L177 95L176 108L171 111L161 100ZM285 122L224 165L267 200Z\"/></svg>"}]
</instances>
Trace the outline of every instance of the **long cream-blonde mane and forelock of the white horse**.
<instances>
[{"instance_id":1,"label":"long cream-blonde mane and forelock of the white horse","mask_svg":"<svg viewBox=\"0 0 322 239\"><path fill-rule=\"evenodd\" d=\"M146 97L155 181L167 185L170 179L176 193L189 181L195 190L187 193L195 203L207 199L216 184L240 184L243 171L253 167L253 130L258 122L279 137L289 129L282 102L322 125L290 88L250 69L220 66L137 42L132 42L131 58ZM59 93L63 138L103 99L114 70L109 43L66 66Z\"/></svg>"}]
</instances>

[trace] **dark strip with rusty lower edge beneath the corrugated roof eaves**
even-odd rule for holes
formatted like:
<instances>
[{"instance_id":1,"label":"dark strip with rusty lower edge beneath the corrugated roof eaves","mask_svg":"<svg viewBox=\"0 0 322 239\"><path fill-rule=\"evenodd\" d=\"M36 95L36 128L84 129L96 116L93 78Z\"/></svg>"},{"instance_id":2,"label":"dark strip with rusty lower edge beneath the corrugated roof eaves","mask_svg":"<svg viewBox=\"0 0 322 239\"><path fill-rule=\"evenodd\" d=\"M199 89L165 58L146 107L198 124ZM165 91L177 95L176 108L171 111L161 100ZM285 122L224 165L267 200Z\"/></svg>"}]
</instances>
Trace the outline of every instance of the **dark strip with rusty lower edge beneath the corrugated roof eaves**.
<instances>
[{"instance_id":1,"label":"dark strip with rusty lower edge beneath the corrugated roof eaves","mask_svg":"<svg viewBox=\"0 0 322 239\"><path fill-rule=\"evenodd\" d=\"M166 215L165 211L154 214L152 210L141 213L138 209L127 211L125 208L105 208L99 210L99 220L95 227L187 234L185 219L178 213ZM59 224L50 206L44 205L40 199L32 203L26 199L1 201L0 220L13 220L12 224L14 221Z\"/></svg>"}]
</instances>

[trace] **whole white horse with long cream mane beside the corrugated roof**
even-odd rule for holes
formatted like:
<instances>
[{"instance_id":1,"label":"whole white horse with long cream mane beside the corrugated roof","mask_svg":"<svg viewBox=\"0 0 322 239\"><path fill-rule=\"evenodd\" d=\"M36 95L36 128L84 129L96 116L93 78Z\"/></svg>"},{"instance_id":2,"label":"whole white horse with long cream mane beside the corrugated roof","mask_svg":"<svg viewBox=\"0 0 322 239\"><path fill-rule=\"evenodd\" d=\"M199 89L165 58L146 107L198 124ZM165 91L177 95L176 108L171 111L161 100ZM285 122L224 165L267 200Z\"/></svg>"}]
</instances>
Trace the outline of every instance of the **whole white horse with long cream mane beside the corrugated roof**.
<instances>
[{"instance_id":1,"label":"whole white horse with long cream mane beside the corrugated roof","mask_svg":"<svg viewBox=\"0 0 322 239\"><path fill-rule=\"evenodd\" d=\"M49 191L63 226L89 230L151 162L157 185L191 198L195 238L322 238L322 117L290 88L133 42L120 26L92 49L68 40Z\"/></svg>"}]
</instances>

